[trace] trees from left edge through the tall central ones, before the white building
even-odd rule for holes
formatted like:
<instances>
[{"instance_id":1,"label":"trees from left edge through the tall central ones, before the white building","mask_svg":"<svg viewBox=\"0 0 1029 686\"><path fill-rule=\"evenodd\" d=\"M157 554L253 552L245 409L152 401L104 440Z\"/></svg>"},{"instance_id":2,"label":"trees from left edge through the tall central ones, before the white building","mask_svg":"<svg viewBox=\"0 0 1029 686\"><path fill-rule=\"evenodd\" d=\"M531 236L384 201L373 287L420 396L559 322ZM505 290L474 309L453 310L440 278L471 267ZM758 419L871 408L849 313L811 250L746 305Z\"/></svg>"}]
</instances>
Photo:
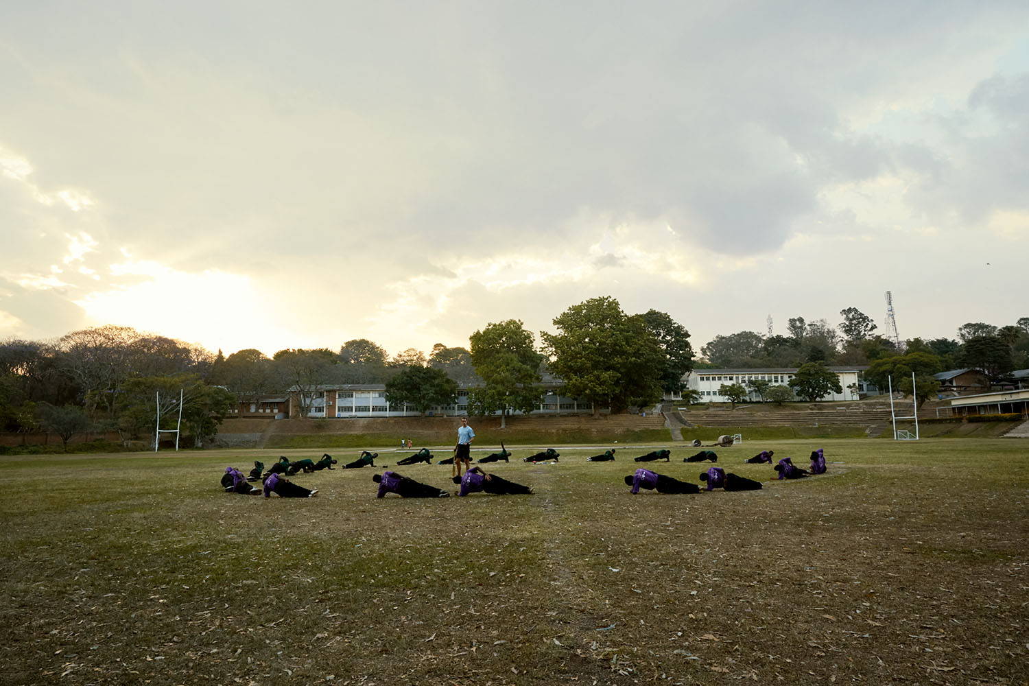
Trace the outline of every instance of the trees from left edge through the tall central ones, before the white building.
<instances>
[{"instance_id":1,"label":"trees from left edge through the tall central ones, before the white building","mask_svg":"<svg viewBox=\"0 0 1029 686\"><path fill-rule=\"evenodd\" d=\"M307 417L325 387L384 384L395 405L425 411L453 404L468 391L472 414L531 411L542 401L544 374L563 393L622 411L681 388L693 368L689 333L657 311L627 315L617 300L597 297L555 318L541 342L519 320L490 323L469 348L437 344L390 358L366 338L339 351L285 349L271 358L255 349L225 357L180 340L125 326L73 331L54 341L0 342L0 430L61 436L117 432L126 442L175 424L194 445L213 439L234 405L292 392ZM181 402L180 402L181 392ZM181 406L180 406L181 405Z\"/></svg>"}]
</instances>

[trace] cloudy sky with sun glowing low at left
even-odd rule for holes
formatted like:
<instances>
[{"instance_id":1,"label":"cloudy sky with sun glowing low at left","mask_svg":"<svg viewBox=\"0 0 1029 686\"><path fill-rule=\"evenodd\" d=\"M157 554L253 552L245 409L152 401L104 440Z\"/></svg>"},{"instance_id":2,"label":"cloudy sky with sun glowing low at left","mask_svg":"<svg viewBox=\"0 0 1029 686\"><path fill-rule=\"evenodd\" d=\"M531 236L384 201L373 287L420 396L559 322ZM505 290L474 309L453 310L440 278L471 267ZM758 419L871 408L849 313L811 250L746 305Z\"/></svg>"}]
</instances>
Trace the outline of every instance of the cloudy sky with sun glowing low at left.
<instances>
[{"instance_id":1,"label":"cloudy sky with sun glowing low at left","mask_svg":"<svg viewBox=\"0 0 1029 686\"><path fill-rule=\"evenodd\" d=\"M0 339L1029 316L1029 3L0 4Z\"/></svg>"}]
</instances>

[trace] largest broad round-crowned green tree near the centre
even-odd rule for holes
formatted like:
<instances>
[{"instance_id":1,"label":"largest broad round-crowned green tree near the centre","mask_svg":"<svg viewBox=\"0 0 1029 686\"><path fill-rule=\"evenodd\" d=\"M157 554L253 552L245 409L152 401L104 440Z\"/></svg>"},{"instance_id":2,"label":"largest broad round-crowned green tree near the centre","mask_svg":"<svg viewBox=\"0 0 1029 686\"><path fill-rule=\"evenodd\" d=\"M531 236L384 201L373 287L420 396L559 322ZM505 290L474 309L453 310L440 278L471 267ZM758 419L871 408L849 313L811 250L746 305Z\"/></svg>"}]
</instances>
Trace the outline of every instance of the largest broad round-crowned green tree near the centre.
<instances>
[{"instance_id":1,"label":"largest broad round-crowned green tree near the centre","mask_svg":"<svg viewBox=\"0 0 1029 686\"><path fill-rule=\"evenodd\" d=\"M594 416L648 404L662 396L666 357L641 317L627 317L609 296L584 300L554 319L558 333L540 333L549 369L565 392L593 403Z\"/></svg>"}]
</instances>

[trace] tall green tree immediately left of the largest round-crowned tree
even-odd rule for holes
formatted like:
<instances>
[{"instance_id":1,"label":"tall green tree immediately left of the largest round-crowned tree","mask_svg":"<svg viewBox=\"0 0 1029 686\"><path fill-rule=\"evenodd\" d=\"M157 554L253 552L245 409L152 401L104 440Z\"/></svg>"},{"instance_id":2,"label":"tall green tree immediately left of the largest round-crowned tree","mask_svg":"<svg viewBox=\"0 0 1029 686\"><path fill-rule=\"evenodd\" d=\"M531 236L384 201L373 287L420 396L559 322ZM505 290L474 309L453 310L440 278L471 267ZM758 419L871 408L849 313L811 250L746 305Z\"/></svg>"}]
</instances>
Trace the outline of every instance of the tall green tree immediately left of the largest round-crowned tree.
<instances>
[{"instance_id":1,"label":"tall green tree immediately left of the largest round-crowned tree","mask_svg":"<svg viewBox=\"0 0 1029 686\"><path fill-rule=\"evenodd\" d=\"M536 352L532 333L520 320L490 323L469 336L471 364L483 386L469 396L469 413L501 413L506 426L510 410L531 412L539 404L542 390L539 373L543 356Z\"/></svg>"}]
</instances>

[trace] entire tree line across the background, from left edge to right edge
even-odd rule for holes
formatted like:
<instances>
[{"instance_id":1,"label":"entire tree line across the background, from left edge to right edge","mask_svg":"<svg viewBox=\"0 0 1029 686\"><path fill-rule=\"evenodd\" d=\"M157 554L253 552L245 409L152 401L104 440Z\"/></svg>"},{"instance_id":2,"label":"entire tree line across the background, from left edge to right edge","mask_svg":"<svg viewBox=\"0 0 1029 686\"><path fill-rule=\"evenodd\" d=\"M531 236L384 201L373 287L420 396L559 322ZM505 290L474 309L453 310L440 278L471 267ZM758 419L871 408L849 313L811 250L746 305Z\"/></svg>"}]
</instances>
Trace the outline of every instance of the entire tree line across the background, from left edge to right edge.
<instances>
[{"instance_id":1,"label":"entire tree line across the background, from left edge to right edge","mask_svg":"<svg viewBox=\"0 0 1029 686\"><path fill-rule=\"evenodd\" d=\"M180 391L183 431L203 445L236 404L292 390L306 417L320 390L333 385L384 384L391 404L422 412L453 404L464 388L469 413L506 417L539 405L545 374L560 380L562 395L592 403L595 412L601 407L618 412L682 392L682 376L695 367L797 367L805 373L794 380L813 380L794 387L802 397L831 390L833 382L824 373L831 364L868 364L865 375L877 386L885 387L892 375L908 393L914 372L924 395L938 389L931 375L945 369L973 367L998 378L1029 367L1029 318L1000 327L968 323L956 339L911 338L898 347L876 334L876 324L858 310L840 314L839 326L792 318L785 336L719 334L701 349L700 359L688 331L668 314L629 315L608 296L568 308L554 318L554 332L539 333L538 344L520 320L510 319L474 331L468 348L437 344L427 356L412 348L389 357L374 341L356 338L338 351L286 349L270 358L247 349L225 357L112 325L52 341L11 338L0 342L0 430L45 430L66 444L76 433L114 431L129 441L153 434L158 393L163 424L173 423ZM725 395L742 400L754 392L778 402L792 397L788 388L761 384L728 388Z\"/></svg>"}]
</instances>

